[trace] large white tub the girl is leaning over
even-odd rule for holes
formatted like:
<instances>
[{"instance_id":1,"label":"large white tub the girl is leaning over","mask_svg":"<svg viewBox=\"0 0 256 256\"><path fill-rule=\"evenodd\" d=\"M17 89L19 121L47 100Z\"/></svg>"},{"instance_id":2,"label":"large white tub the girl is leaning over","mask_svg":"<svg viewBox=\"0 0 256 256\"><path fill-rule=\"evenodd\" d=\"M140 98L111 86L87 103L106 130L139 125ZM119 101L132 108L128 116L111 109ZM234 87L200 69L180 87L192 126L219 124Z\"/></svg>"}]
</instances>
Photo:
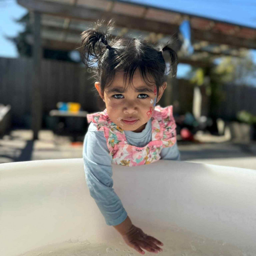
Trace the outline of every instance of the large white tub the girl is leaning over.
<instances>
[{"instance_id":1,"label":"large white tub the girl is leaning over","mask_svg":"<svg viewBox=\"0 0 256 256\"><path fill-rule=\"evenodd\" d=\"M256 171L160 160L113 165L113 180L132 223L164 243L159 255L256 255ZM106 225L83 159L1 164L0 203L1 256L141 255Z\"/></svg>"}]
</instances>

